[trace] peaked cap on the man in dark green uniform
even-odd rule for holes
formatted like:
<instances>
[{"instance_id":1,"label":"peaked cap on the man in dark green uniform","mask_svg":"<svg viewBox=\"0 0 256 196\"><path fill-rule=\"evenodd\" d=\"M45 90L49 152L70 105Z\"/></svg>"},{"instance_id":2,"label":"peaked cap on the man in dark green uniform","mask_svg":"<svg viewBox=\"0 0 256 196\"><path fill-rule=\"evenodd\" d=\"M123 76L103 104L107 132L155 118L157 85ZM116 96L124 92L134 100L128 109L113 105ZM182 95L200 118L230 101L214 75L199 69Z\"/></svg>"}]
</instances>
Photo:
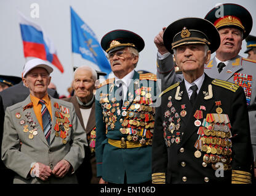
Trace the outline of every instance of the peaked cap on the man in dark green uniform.
<instances>
[{"instance_id":1,"label":"peaked cap on the man in dark green uniform","mask_svg":"<svg viewBox=\"0 0 256 196\"><path fill-rule=\"evenodd\" d=\"M135 32L117 29L105 34L100 45L107 53L124 47L134 47L140 52L143 50L145 43L142 37L135 34Z\"/></svg>"}]
</instances>

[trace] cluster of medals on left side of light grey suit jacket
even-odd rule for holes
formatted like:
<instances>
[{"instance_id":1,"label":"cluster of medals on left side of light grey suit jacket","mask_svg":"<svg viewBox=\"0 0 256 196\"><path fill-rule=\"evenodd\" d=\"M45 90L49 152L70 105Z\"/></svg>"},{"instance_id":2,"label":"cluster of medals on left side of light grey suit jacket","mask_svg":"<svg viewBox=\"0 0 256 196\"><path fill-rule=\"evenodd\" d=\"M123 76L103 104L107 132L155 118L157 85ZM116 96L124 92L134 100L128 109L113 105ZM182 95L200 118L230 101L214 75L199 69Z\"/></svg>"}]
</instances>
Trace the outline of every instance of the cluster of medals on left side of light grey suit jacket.
<instances>
[{"instance_id":1,"label":"cluster of medals on left side of light grey suit jacket","mask_svg":"<svg viewBox=\"0 0 256 196\"><path fill-rule=\"evenodd\" d=\"M38 125L33 121L33 118L31 117L31 112L26 113L26 119L20 120L20 125L23 126L23 132L29 132L28 138L33 139L35 135L38 135L38 129L36 128ZM20 113L16 114L17 118L21 118ZM28 124L30 124L30 127L32 130L29 130L30 127L28 127Z\"/></svg>"}]
</instances>

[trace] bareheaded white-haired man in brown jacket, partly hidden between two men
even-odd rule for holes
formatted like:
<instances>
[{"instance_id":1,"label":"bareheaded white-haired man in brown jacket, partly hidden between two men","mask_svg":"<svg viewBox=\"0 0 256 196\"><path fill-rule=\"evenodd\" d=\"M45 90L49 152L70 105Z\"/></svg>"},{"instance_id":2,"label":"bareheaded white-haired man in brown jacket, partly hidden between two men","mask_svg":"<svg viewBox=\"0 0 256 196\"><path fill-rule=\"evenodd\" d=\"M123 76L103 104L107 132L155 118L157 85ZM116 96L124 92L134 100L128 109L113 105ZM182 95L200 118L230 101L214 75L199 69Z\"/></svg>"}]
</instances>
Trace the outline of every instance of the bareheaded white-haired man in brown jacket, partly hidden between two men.
<instances>
[{"instance_id":1,"label":"bareheaded white-haired man in brown jacket, partly hidden between two men","mask_svg":"<svg viewBox=\"0 0 256 196\"><path fill-rule=\"evenodd\" d=\"M102 72L100 74L103 74ZM95 81L97 72L88 66L76 67L74 70L73 88L74 96L65 98L74 105L74 110L78 119L85 130L89 148L86 148L86 157L80 165L76 176L79 184L98 183L96 177L96 160L95 160ZM105 74L106 75L106 74Z\"/></svg>"}]
</instances>

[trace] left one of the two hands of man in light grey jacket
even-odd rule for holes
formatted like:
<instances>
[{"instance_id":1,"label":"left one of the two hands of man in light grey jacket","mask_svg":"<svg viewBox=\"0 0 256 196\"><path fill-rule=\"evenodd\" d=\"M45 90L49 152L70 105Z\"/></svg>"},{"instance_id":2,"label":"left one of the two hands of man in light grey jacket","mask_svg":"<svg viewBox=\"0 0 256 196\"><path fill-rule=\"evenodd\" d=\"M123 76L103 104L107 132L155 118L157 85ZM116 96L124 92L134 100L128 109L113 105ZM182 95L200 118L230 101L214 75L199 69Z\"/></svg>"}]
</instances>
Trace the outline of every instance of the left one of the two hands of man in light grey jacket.
<instances>
[{"instance_id":1,"label":"left one of the two hands of man in light grey jacket","mask_svg":"<svg viewBox=\"0 0 256 196\"><path fill-rule=\"evenodd\" d=\"M31 171L32 177L38 177L42 179L42 181L46 181L50 175L52 175L52 170L49 166L41 164L39 162L34 164L33 170Z\"/></svg>"}]
</instances>

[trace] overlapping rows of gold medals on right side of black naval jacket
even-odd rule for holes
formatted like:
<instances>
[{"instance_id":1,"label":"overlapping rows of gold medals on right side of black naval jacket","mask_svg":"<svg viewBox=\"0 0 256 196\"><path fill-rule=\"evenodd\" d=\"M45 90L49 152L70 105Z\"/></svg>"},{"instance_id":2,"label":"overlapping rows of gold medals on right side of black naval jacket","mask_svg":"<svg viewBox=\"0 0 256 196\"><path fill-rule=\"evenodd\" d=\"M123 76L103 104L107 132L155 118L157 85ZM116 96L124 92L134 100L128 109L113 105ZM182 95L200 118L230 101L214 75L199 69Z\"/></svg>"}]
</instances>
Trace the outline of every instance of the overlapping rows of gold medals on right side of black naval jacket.
<instances>
[{"instance_id":1,"label":"overlapping rows of gold medals on right side of black naval jacket","mask_svg":"<svg viewBox=\"0 0 256 196\"><path fill-rule=\"evenodd\" d=\"M218 114L222 113L222 108L216 109ZM198 120L197 120L198 121ZM206 119L204 119L206 121ZM204 123L202 123L204 124ZM195 123L196 125L196 123ZM198 124L198 127L201 123ZM202 142L201 151L204 152L202 157L202 166L207 167L207 164L212 164L212 168L217 170L215 164L222 163L224 170L231 170L231 131L227 124L208 123L207 127L202 126L204 134L200 138ZM194 153L196 158L201 157L202 153L199 149Z\"/></svg>"}]
</instances>

